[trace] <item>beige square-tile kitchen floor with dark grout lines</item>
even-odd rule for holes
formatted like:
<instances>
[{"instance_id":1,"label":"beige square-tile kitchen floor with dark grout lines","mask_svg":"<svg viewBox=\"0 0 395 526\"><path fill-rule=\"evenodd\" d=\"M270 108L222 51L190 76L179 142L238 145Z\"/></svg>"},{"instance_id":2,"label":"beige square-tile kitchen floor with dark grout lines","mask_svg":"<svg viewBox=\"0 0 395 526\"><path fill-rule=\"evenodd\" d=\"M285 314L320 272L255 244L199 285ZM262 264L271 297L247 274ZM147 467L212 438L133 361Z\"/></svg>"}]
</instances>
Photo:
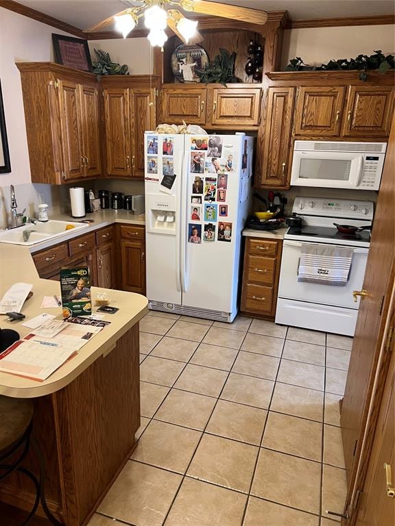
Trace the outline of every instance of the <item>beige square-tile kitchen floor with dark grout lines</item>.
<instances>
[{"instance_id":1,"label":"beige square-tile kitchen floor with dark grout lines","mask_svg":"<svg viewBox=\"0 0 395 526\"><path fill-rule=\"evenodd\" d=\"M139 444L88 526L335 526L352 338L160 312L140 329Z\"/></svg>"}]
</instances>

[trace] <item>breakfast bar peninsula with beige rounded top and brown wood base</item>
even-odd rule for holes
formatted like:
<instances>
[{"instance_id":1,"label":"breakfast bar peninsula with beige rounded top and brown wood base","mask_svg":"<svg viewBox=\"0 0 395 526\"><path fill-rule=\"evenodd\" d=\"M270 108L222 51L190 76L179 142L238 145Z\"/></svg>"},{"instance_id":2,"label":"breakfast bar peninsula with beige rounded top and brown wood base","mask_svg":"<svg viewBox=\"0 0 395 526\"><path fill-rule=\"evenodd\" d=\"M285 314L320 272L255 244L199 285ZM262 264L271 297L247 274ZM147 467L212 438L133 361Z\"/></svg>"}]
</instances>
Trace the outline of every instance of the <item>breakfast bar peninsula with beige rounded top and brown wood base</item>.
<instances>
[{"instance_id":1,"label":"breakfast bar peninsula with beige rounded top and brown wood base","mask_svg":"<svg viewBox=\"0 0 395 526\"><path fill-rule=\"evenodd\" d=\"M43 312L61 316L61 308L41 309L44 296L60 296L60 284L40 279L27 247L0 244L0 296L16 282L33 284L23 305L25 320ZM34 399L33 434L45 458L45 494L49 510L65 526L86 525L135 447L140 425L139 320L147 299L120 290L107 292L116 314L73 358L45 381L0 373L0 395ZM93 309L93 312L95 309ZM31 329L0 316L2 329L23 337ZM38 474L34 452L24 461ZM34 502L27 477L11 475L0 484L0 501L24 510Z\"/></svg>"}]
</instances>

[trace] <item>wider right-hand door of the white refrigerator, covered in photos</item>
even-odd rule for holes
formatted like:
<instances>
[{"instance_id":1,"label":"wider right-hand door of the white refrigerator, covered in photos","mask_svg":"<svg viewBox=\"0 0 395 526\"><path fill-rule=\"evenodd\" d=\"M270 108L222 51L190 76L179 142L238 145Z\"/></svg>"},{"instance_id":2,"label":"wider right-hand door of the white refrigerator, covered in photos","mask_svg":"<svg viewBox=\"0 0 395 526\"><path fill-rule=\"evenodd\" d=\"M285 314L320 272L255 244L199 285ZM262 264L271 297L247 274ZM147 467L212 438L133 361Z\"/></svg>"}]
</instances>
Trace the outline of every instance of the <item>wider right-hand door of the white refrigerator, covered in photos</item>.
<instances>
[{"instance_id":1,"label":"wider right-hand door of the white refrigerator, covered in photos","mask_svg":"<svg viewBox=\"0 0 395 526\"><path fill-rule=\"evenodd\" d=\"M215 141L211 141L213 137ZM203 152L204 172L199 173L197 171L202 168L198 159L194 159L196 151L189 148L188 140L191 139L188 136L186 140L184 164L189 177L184 179L187 188L182 192L186 196L186 220L181 238L181 253L185 254L184 265L181 263L181 274L184 275L182 305L233 313L232 318L237 311L241 229L248 208L248 192L241 191L246 186L241 184L242 178L250 175L249 163L243 160L243 148L247 141L251 154L252 142L237 135L209 136L208 151ZM211 142L216 144L212 149ZM202 205L196 204L201 214L200 221L197 221L191 201L193 197L199 197L199 178L203 179L203 189ZM208 232L210 225L211 233Z\"/></svg>"}]
</instances>

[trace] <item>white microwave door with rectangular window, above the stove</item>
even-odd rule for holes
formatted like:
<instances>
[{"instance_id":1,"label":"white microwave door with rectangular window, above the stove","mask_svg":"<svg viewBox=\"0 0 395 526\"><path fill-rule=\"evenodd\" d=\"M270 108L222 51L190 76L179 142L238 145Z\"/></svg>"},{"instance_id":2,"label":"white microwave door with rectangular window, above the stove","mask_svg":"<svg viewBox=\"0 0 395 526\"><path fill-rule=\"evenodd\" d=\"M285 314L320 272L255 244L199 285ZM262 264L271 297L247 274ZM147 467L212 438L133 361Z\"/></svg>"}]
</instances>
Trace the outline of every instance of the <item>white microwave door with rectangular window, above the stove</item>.
<instances>
[{"instance_id":1,"label":"white microwave door with rectangular window, above the stove","mask_svg":"<svg viewBox=\"0 0 395 526\"><path fill-rule=\"evenodd\" d=\"M351 152L294 151L291 185L359 188L363 155Z\"/></svg>"}]
</instances>

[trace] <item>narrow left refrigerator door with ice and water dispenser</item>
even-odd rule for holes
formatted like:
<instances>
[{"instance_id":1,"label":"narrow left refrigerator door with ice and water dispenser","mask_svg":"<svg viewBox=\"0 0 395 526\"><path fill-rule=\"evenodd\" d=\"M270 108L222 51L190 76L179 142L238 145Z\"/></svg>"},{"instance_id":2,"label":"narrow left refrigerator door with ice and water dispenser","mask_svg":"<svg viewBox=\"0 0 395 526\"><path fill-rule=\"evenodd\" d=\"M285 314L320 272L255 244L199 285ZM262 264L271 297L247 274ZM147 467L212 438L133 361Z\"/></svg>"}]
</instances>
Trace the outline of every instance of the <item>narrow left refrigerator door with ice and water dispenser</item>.
<instances>
[{"instance_id":1,"label":"narrow left refrigerator door with ice and water dispenser","mask_svg":"<svg viewBox=\"0 0 395 526\"><path fill-rule=\"evenodd\" d=\"M180 304L180 186L184 136L145 133L147 298Z\"/></svg>"}]
</instances>

